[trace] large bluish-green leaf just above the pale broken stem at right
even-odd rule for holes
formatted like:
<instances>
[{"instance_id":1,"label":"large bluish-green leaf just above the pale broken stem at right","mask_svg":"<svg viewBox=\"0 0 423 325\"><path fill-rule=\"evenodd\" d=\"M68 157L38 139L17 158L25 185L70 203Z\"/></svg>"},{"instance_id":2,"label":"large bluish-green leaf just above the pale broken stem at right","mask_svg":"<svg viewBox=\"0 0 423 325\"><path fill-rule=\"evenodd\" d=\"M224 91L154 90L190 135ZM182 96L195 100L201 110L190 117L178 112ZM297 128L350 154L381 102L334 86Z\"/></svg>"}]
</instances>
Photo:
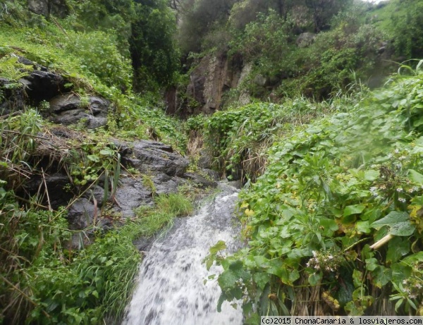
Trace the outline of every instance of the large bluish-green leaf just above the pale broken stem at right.
<instances>
[{"instance_id":1,"label":"large bluish-green leaf just above the pale broken stem at right","mask_svg":"<svg viewBox=\"0 0 423 325\"><path fill-rule=\"evenodd\" d=\"M380 229L387 226L392 235L409 236L415 231L415 226L410 222L407 212L392 211L384 218L374 221L370 225L372 228Z\"/></svg>"}]
</instances>

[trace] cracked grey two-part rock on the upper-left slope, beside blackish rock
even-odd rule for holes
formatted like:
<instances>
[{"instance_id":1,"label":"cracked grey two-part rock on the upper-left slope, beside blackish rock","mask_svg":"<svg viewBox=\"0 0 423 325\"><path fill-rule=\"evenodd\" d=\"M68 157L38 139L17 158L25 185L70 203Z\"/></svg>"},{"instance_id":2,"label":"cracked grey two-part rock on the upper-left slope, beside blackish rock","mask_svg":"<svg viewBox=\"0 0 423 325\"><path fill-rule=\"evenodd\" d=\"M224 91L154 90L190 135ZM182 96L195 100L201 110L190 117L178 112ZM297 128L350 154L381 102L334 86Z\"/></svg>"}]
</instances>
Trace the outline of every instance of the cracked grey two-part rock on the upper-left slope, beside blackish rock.
<instances>
[{"instance_id":1,"label":"cracked grey two-part rock on the upper-left slope, beside blackish rock","mask_svg":"<svg viewBox=\"0 0 423 325\"><path fill-rule=\"evenodd\" d=\"M63 125L82 123L87 128L99 128L107 124L111 105L106 99L89 97L84 104L73 93L60 94L50 100L51 121Z\"/></svg>"}]
</instances>

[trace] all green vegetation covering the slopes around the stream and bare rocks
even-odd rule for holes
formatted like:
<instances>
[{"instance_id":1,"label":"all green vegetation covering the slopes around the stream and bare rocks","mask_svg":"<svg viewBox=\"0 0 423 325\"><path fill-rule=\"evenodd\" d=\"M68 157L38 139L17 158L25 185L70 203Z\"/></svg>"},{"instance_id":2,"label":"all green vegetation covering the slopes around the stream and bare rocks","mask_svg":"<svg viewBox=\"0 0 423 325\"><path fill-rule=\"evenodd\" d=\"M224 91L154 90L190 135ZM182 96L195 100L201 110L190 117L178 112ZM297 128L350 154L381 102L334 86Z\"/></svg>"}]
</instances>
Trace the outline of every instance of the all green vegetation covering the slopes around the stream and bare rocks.
<instances>
[{"instance_id":1,"label":"all green vegetation covering the slopes around the stream and bare rocks","mask_svg":"<svg viewBox=\"0 0 423 325\"><path fill-rule=\"evenodd\" d=\"M111 202L123 166L111 138L165 142L192 154L194 171L204 149L246 184L247 245L224 256L217 243L206 264L224 269L219 307L243 298L247 324L382 306L423 314L422 1L172 0L176 12L168 2L67 0L63 15L45 16L25 0L1 2L0 105L16 98L22 107L21 78L47 68L80 106L99 95L114 110L96 130L61 126L61 138L42 118L47 100L0 116L0 323L118 322L141 258L133 240L192 213L191 193L157 195L151 176L129 168L154 206L121 221ZM185 87L204 56L252 72L223 94L224 110L186 122L166 116L163 92ZM393 70L383 89L368 90L367 80L382 85ZM252 103L238 105L245 91ZM178 110L198 104L177 98ZM46 159L45 168L66 171L72 201L104 182L88 228L69 229L68 207L54 211L47 190L24 195L31 176L45 182Z\"/></svg>"}]
</instances>

